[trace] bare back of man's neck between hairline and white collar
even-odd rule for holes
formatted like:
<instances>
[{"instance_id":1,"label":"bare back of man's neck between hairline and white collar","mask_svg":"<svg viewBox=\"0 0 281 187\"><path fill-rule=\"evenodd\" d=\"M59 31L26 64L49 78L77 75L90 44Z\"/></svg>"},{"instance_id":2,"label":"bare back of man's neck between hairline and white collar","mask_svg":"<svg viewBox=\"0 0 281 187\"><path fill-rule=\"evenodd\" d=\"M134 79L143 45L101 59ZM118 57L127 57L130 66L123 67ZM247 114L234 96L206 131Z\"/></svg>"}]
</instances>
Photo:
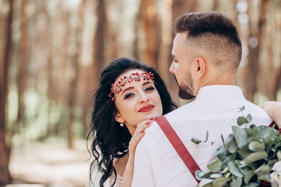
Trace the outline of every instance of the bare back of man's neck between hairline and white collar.
<instances>
[{"instance_id":1,"label":"bare back of man's neck between hairline and white collar","mask_svg":"<svg viewBox=\"0 0 281 187\"><path fill-rule=\"evenodd\" d=\"M215 78L214 78L215 77ZM235 86L234 76L228 76L228 77L221 77L221 76L213 76L213 77L205 77L204 80L201 80L198 85L197 93L199 90L204 86L210 86L210 85L233 85ZM196 94L197 95L197 94Z\"/></svg>"}]
</instances>

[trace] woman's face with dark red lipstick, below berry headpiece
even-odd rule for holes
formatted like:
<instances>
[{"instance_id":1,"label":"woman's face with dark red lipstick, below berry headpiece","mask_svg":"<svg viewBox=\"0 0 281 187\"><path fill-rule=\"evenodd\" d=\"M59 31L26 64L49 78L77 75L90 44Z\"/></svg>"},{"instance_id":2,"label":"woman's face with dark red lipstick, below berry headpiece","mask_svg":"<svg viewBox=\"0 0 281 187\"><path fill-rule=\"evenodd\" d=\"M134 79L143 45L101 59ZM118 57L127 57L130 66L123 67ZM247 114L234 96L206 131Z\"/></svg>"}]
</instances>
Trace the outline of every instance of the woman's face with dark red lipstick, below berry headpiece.
<instances>
[{"instance_id":1,"label":"woman's face with dark red lipstick, below berry headpiece","mask_svg":"<svg viewBox=\"0 0 281 187\"><path fill-rule=\"evenodd\" d=\"M143 70L128 70L116 79L114 85L118 84L120 78L130 77L131 73L143 73ZM162 103L158 91L152 80L132 80L126 83L120 93L115 97L115 105L118 110L116 121L124 122L125 125L136 127L145 119L156 118L162 115ZM129 127L128 127L129 128ZM130 130L130 129L129 129Z\"/></svg>"}]
</instances>

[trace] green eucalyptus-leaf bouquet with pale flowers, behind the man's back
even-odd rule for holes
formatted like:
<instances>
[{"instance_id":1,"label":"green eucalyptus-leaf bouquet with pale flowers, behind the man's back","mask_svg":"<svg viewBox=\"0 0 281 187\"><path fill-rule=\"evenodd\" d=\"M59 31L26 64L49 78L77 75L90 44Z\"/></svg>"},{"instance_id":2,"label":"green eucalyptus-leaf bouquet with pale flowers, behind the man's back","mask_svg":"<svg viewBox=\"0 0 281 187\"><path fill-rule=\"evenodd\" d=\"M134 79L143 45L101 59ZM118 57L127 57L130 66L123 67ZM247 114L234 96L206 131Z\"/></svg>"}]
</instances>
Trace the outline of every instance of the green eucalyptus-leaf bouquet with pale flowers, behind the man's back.
<instances>
[{"instance_id":1,"label":"green eucalyptus-leaf bouquet with pale flowers, behind the man's back","mask_svg":"<svg viewBox=\"0 0 281 187\"><path fill-rule=\"evenodd\" d=\"M238 117L239 126L250 123L252 116L243 115L245 106L238 108L242 113ZM275 126L275 125L274 125ZM210 172L197 170L195 178L200 187L255 187L281 186L281 134L273 127L254 124L249 128L233 126L229 142L220 146L213 154L218 160L207 165ZM192 142L200 145L208 141L192 137ZM214 145L214 142L210 142Z\"/></svg>"}]
</instances>

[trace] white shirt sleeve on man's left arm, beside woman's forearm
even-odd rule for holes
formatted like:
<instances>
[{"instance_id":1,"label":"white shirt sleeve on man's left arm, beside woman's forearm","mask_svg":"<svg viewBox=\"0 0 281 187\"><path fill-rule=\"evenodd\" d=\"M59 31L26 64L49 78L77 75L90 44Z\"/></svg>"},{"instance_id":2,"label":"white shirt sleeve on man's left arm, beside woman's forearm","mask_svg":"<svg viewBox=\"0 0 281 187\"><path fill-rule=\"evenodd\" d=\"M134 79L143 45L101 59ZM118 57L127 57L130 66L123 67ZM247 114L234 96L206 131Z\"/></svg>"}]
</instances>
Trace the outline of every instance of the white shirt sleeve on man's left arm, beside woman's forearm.
<instances>
[{"instance_id":1,"label":"white shirt sleeve on man's left arm, beside woman's forearm","mask_svg":"<svg viewBox=\"0 0 281 187\"><path fill-rule=\"evenodd\" d=\"M150 134L147 131L136 147L132 187L155 186L149 141Z\"/></svg>"}]
</instances>

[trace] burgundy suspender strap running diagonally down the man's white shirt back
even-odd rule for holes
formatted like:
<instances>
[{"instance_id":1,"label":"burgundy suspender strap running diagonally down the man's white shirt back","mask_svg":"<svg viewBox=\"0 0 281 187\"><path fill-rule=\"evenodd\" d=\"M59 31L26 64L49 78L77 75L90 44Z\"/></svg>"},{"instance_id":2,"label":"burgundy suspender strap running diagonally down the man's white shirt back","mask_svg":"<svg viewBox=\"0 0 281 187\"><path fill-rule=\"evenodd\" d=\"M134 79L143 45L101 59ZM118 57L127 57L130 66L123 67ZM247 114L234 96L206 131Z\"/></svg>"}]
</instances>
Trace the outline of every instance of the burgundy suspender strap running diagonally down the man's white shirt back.
<instances>
[{"instance_id":1,"label":"burgundy suspender strap running diagonally down the man's white shirt back","mask_svg":"<svg viewBox=\"0 0 281 187\"><path fill-rule=\"evenodd\" d=\"M184 161L187 168L190 170L192 175L195 178L195 171L200 170L200 167L197 165L195 160L192 158L188 150L186 149L185 145L182 143L170 123L167 121L167 119L164 116L158 117L155 119L155 121L158 123L166 137L171 142L172 146L175 148L177 153L179 154L182 161ZM199 183L199 180L195 178L195 180Z\"/></svg>"}]
</instances>

